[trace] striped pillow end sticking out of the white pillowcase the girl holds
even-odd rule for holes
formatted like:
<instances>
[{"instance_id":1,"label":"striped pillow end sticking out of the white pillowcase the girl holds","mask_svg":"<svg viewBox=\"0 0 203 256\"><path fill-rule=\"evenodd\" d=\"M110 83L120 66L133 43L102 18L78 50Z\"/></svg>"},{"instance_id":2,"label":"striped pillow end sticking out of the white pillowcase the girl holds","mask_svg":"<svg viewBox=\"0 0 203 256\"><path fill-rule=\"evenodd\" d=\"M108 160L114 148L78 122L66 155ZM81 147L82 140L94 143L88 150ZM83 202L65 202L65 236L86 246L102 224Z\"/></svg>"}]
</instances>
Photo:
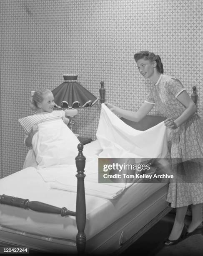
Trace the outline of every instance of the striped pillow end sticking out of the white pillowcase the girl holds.
<instances>
[{"instance_id":1,"label":"striped pillow end sticking out of the white pillowcase the girl holds","mask_svg":"<svg viewBox=\"0 0 203 256\"><path fill-rule=\"evenodd\" d=\"M53 110L53 112L42 112L36 115L29 115L24 118L18 119L20 124L25 130L26 134L29 134L33 125L41 123L43 121L55 120L55 119L63 119L65 117L64 110Z\"/></svg>"}]
</instances>

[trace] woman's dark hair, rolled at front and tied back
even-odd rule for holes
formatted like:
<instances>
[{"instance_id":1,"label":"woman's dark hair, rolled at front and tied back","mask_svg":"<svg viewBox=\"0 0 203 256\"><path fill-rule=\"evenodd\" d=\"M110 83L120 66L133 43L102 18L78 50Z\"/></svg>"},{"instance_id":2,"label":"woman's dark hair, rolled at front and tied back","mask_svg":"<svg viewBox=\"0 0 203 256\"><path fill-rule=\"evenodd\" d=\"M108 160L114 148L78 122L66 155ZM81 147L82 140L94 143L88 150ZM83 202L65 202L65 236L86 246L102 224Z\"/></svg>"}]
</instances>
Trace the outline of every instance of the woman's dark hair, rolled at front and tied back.
<instances>
[{"instance_id":1,"label":"woman's dark hair, rolled at front and tied back","mask_svg":"<svg viewBox=\"0 0 203 256\"><path fill-rule=\"evenodd\" d=\"M163 64L159 55L155 55L150 51L139 51L134 55L134 59L137 62L139 59L147 59L150 61L156 61L156 67L159 73L163 74Z\"/></svg>"}]
</instances>

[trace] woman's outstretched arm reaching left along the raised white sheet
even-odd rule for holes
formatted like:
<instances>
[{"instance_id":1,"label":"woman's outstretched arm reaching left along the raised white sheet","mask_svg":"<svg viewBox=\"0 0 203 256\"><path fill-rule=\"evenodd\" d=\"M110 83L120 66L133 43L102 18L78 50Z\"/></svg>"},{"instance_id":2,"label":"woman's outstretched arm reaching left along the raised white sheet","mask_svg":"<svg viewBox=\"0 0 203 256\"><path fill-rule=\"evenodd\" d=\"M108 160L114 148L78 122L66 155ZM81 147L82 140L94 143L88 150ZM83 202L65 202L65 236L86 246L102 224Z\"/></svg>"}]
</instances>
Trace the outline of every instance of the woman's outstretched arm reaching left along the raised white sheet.
<instances>
[{"instance_id":1,"label":"woman's outstretched arm reaching left along the raised white sheet","mask_svg":"<svg viewBox=\"0 0 203 256\"><path fill-rule=\"evenodd\" d=\"M116 115L120 115L121 117L134 122L139 122L141 119L143 119L154 106L153 104L144 102L143 105L138 109L138 111L133 112L115 107L114 105L107 102L105 102L105 105L107 105L107 107Z\"/></svg>"}]
</instances>

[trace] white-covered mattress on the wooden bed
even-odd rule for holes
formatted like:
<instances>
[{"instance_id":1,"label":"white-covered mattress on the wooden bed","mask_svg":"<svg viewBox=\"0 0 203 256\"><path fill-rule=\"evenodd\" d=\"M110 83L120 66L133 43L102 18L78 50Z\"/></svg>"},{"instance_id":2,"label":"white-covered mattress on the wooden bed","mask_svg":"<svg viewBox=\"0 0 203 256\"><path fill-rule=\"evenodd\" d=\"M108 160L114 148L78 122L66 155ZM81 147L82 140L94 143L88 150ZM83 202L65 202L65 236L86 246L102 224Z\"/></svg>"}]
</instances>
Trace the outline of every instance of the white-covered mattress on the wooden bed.
<instances>
[{"instance_id":1,"label":"white-covered mattress on the wooden bed","mask_svg":"<svg viewBox=\"0 0 203 256\"><path fill-rule=\"evenodd\" d=\"M95 154L100 152L98 141L85 145L85 148ZM135 207L139 208L143 223L147 223L149 220L145 219L144 212L149 207L148 199L152 198L150 205L159 199L165 201L167 189L168 184L165 183L135 183L113 200L86 195L85 234L87 240L122 218ZM34 167L28 167L1 179L0 195L2 194L29 199L30 201L40 201L56 207L66 207L72 211L75 211L76 207L75 192L50 189L48 182L43 181ZM152 197L152 195L156 196ZM24 210L9 205L0 205L0 225L39 236L72 241L75 241L78 232L73 216L61 217L60 215Z\"/></svg>"}]
</instances>

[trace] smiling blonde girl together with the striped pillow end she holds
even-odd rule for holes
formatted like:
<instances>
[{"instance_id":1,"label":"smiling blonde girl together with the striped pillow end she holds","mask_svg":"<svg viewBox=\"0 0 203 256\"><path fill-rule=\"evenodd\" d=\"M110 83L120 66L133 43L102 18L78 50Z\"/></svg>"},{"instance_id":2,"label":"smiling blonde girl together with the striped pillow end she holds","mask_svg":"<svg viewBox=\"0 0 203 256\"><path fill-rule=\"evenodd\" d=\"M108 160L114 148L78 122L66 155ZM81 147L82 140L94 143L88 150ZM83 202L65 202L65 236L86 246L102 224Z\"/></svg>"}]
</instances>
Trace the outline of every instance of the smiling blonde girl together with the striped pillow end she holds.
<instances>
[{"instance_id":1,"label":"smiling blonde girl together with the striped pillow end she holds","mask_svg":"<svg viewBox=\"0 0 203 256\"><path fill-rule=\"evenodd\" d=\"M36 156L32 147L32 139L34 134L38 131L38 123L44 120L50 120L48 113L53 113L52 119L60 118L67 125L68 118L65 117L63 110L54 111L55 106L53 93L48 89L39 89L32 91L30 94L29 107L35 111L34 116L30 119L19 119L20 124L24 127L26 132L25 145L30 148L25 158L23 169L28 166L36 166ZM34 124L33 124L34 123Z\"/></svg>"}]
</instances>

